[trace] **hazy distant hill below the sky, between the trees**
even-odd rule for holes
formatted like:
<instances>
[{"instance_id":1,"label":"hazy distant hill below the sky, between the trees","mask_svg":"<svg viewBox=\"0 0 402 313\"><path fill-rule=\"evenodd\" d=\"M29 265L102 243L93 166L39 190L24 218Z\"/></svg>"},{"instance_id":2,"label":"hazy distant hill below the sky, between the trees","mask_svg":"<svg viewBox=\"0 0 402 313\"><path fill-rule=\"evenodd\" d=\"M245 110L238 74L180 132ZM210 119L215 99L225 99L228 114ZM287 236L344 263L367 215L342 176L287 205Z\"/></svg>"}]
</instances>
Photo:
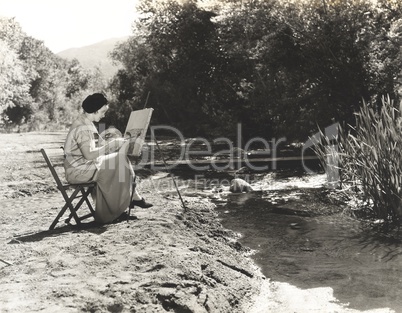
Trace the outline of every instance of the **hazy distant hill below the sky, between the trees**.
<instances>
[{"instance_id":1,"label":"hazy distant hill below the sky, between the trees","mask_svg":"<svg viewBox=\"0 0 402 313\"><path fill-rule=\"evenodd\" d=\"M69 60L77 59L85 68L92 69L99 66L105 78L109 79L117 72L118 67L113 65L108 53L115 48L116 44L127 39L128 37L111 38L89 46L67 49L57 55Z\"/></svg>"}]
</instances>

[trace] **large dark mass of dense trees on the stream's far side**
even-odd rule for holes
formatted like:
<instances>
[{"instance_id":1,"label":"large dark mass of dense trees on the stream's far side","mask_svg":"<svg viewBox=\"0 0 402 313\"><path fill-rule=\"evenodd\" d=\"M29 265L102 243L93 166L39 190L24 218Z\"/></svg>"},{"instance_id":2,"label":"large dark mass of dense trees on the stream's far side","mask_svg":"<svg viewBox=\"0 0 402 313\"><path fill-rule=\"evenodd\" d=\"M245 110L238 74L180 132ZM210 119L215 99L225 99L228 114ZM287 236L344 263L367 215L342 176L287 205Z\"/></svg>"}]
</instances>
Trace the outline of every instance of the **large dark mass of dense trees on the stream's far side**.
<instances>
[{"instance_id":1,"label":"large dark mass of dense trees on the stream's far side","mask_svg":"<svg viewBox=\"0 0 402 313\"><path fill-rule=\"evenodd\" d=\"M113 53L119 103L140 108L149 93L155 119L187 135L242 123L249 137L303 140L317 124L353 124L363 100L397 96L396 1L202 4L141 1L135 36Z\"/></svg>"}]
</instances>

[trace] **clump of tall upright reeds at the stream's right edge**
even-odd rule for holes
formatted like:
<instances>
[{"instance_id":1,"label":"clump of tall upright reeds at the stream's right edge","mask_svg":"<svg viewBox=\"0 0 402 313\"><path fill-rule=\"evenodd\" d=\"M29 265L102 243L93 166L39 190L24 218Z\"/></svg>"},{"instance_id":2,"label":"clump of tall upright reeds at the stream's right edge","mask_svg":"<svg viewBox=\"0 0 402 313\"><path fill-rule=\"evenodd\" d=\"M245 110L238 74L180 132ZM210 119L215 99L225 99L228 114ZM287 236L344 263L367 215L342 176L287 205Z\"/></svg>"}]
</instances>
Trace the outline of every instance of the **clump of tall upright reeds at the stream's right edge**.
<instances>
[{"instance_id":1,"label":"clump of tall upright reeds at the stream's right edge","mask_svg":"<svg viewBox=\"0 0 402 313\"><path fill-rule=\"evenodd\" d=\"M329 138L316 140L314 150L328 169ZM356 126L339 129L337 145L342 191L383 229L402 222L402 117L389 96L381 107L363 103Z\"/></svg>"}]
</instances>

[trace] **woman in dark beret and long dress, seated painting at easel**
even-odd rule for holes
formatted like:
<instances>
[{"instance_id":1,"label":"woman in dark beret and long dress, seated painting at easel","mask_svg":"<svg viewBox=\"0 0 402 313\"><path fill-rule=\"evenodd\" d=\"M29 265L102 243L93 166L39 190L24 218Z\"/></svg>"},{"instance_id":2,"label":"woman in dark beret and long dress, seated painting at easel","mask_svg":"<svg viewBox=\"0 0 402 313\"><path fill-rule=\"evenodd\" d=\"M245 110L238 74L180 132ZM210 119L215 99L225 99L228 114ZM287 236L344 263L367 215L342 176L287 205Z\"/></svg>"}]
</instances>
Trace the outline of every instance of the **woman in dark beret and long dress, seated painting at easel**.
<instances>
[{"instance_id":1,"label":"woman in dark beret and long dress, seated painting at easel","mask_svg":"<svg viewBox=\"0 0 402 313\"><path fill-rule=\"evenodd\" d=\"M105 116L106 97L94 93L83 101L82 108L84 112L71 125L64 145L67 181L96 182L95 221L100 223L115 220L128 207L151 207L133 185L135 174L127 157L130 141L123 138L98 141L99 133L93 122Z\"/></svg>"}]
</instances>

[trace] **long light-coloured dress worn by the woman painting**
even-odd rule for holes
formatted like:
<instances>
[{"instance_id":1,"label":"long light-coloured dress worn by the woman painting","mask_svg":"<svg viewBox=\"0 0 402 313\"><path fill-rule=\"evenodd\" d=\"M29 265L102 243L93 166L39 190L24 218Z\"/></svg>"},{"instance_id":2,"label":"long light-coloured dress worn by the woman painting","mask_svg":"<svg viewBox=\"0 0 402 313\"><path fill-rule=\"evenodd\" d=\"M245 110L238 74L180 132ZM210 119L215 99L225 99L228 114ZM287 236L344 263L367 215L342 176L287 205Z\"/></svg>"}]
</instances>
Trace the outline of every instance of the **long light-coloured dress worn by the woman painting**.
<instances>
[{"instance_id":1,"label":"long light-coloured dress worn by the woman painting","mask_svg":"<svg viewBox=\"0 0 402 313\"><path fill-rule=\"evenodd\" d=\"M69 183L97 183L95 220L108 223L116 219L129 206L134 170L127 158L129 142L117 151L87 160L81 146L95 147L99 133L94 124L81 116L72 125L64 145L64 168Z\"/></svg>"}]
</instances>

